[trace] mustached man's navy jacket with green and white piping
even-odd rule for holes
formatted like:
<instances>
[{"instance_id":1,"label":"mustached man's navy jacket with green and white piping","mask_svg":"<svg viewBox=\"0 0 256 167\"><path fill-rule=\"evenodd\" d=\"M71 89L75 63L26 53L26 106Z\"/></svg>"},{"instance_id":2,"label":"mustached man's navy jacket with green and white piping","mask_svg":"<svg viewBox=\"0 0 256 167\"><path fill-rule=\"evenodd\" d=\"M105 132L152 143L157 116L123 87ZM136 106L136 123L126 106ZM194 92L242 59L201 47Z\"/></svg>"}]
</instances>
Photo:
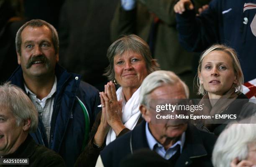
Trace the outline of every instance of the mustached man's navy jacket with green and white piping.
<instances>
[{"instance_id":1,"label":"mustached man's navy jacket with green and white piping","mask_svg":"<svg viewBox=\"0 0 256 167\"><path fill-rule=\"evenodd\" d=\"M80 82L79 75L68 73L59 65L56 65L55 75L57 90L51 116L50 142L40 118L37 132L31 135L38 144L59 153L68 167L73 167L89 139L90 128L100 110L97 107L100 97L95 87ZM9 80L25 91L21 67Z\"/></svg>"}]
</instances>

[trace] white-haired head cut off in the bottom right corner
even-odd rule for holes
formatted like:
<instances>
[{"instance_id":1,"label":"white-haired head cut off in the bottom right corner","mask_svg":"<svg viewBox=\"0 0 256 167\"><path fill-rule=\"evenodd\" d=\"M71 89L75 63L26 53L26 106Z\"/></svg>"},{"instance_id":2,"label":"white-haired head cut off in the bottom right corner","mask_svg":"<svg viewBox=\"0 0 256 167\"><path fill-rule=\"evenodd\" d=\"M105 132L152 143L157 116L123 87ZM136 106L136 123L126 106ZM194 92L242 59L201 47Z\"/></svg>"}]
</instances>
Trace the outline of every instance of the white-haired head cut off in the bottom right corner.
<instances>
[{"instance_id":1,"label":"white-haired head cut off in the bottom right corner","mask_svg":"<svg viewBox=\"0 0 256 167\"><path fill-rule=\"evenodd\" d=\"M256 124L230 124L212 152L214 167L256 167Z\"/></svg>"}]
</instances>

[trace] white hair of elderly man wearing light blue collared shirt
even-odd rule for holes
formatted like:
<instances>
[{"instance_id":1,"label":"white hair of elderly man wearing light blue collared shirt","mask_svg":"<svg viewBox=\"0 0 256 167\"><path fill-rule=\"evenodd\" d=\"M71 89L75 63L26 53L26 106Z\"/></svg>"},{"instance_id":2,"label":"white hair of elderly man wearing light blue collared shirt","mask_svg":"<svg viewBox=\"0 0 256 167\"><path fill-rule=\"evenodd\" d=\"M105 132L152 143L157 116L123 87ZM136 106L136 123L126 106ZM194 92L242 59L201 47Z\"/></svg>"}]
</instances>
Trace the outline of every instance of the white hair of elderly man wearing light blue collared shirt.
<instances>
[{"instance_id":1,"label":"white hair of elderly man wearing light blue collared shirt","mask_svg":"<svg viewBox=\"0 0 256 167\"><path fill-rule=\"evenodd\" d=\"M181 83L184 88L186 97L189 97L189 89L187 85L172 71L158 70L149 74L141 84L140 104L148 106L148 95L157 87L164 84L175 85Z\"/></svg>"}]
</instances>

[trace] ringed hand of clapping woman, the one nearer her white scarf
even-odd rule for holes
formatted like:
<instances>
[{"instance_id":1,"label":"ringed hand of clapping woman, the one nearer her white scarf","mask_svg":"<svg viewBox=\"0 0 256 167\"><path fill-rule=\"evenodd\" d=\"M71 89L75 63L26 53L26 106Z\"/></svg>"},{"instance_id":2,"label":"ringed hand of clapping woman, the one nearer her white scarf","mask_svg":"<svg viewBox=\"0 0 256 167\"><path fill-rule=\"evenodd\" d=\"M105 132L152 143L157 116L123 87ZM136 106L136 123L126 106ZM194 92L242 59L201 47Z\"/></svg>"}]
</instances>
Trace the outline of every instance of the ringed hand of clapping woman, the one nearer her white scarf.
<instances>
[{"instance_id":1,"label":"ringed hand of clapping woman, the one nearer her white scarf","mask_svg":"<svg viewBox=\"0 0 256 167\"><path fill-rule=\"evenodd\" d=\"M107 122L115 131L115 134L118 135L125 128L122 122L122 101L117 100L113 82L108 82L108 84L105 85L105 89L107 90L107 95L104 93L102 97L105 101ZM113 102L111 102L111 100Z\"/></svg>"}]
</instances>

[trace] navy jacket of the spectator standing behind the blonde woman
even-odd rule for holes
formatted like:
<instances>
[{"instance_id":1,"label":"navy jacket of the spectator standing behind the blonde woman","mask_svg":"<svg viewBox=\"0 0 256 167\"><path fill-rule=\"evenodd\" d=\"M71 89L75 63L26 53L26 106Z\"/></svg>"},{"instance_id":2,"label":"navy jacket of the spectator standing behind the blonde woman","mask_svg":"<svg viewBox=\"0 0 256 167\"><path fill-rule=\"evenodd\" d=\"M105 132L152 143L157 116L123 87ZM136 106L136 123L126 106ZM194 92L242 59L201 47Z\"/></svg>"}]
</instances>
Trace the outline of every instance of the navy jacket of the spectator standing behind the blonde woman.
<instances>
[{"instance_id":1,"label":"navy jacket of the spectator standing behind the blonde woman","mask_svg":"<svg viewBox=\"0 0 256 167\"><path fill-rule=\"evenodd\" d=\"M186 10L176 14L176 19L179 41L189 51L203 51L214 43L233 47L247 82L256 78L256 37L251 30L256 9L243 12L245 3L256 4L256 0L212 0L200 17L195 10Z\"/></svg>"}]
</instances>

